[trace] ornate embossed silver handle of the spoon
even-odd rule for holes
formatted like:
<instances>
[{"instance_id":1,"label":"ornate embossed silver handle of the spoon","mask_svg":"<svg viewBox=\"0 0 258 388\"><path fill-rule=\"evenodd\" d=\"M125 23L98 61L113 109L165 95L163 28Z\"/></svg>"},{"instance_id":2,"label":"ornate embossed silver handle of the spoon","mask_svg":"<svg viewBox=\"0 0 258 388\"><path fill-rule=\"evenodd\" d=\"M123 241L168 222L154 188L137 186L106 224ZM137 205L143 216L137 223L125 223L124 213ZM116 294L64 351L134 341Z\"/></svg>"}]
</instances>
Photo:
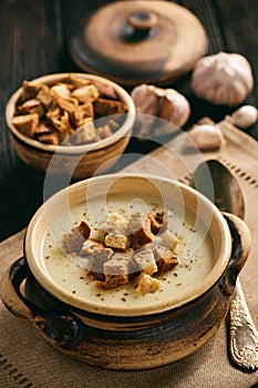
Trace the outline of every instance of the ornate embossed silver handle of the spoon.
<instances>
[{"instance_id":1,"label":"ornate embossed silver handle of the spoon","mask_svg":"<svg viewBox=\"0 0 258 388\"><path fill-rule=\"evenodd\" d=\"M258 331L251 319L239 279L230 306L229 351L246 370L258 368Z\"/></svg>"}]
</instances>

